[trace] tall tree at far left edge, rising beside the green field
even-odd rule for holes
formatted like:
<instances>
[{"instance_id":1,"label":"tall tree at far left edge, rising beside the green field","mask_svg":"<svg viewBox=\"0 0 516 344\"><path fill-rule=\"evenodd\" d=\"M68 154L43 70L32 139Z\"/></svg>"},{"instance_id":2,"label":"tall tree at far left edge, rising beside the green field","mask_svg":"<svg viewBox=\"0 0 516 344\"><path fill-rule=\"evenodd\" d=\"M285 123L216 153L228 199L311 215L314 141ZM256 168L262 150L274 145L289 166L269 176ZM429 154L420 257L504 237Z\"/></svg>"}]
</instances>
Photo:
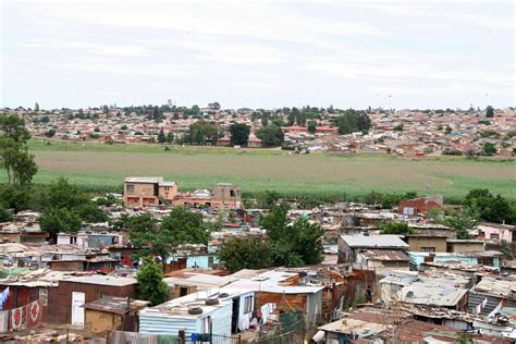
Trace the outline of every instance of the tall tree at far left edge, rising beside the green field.
<instances>
[{"instance_id":1,"label":"tall tree at far left edge, rising beside the green field","mask_svg":"<svg viewBox=\"0 0 516 344\"><path fill-rule=\"evenodd\" d=\"M0 165L8 174L8 183L24 185L32 182L37 172L34 156L28 153L30 134L25 122L16 114L0 116Z\"/></svg>"}]
</instances>

